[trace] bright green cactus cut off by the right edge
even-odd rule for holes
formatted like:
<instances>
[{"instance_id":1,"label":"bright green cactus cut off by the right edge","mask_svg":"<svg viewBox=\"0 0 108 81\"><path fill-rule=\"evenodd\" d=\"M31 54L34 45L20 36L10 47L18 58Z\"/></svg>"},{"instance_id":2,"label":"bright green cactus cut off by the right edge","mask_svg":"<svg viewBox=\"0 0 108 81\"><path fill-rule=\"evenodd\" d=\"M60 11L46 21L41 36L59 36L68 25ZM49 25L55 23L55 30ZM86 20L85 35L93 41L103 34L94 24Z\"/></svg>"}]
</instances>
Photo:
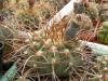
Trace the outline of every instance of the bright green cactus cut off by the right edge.
<instances>
[{"instance_id":1,"label":"bright green cactus cut off by the right edge","mask_svg":"<svg viewBox=\"0 0 108 81\"><path fill-rule=\"evenodd\" d=\"M97 35L97 41L104 44L108 44L108 22L102 24L99 33Z\"/></svg>"}]
</instances>

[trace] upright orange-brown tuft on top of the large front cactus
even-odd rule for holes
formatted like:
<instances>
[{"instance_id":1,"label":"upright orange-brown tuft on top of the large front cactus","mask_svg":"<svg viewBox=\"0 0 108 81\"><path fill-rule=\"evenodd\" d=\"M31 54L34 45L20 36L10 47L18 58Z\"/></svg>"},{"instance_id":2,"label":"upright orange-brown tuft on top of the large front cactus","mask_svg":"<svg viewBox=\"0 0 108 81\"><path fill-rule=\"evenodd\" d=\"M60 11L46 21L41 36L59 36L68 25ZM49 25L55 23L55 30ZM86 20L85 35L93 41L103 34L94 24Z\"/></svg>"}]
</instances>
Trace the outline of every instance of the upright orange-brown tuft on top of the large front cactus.
<instances>
[{"instance_id":1,"label":"upright orange-brown tuft on top of the large front cactus","mask_svg":"<svg viewBox=\"0 0 108 81\"><path fill-rule=\"evenodd\" d=\"M64 33L68 24L67 17L68 16L63 17L58 24L53 23L50 29L48 27L44 28L45 39L51 39L54 44L62 43L64 41Z\"/></svg>"}]
</instances>

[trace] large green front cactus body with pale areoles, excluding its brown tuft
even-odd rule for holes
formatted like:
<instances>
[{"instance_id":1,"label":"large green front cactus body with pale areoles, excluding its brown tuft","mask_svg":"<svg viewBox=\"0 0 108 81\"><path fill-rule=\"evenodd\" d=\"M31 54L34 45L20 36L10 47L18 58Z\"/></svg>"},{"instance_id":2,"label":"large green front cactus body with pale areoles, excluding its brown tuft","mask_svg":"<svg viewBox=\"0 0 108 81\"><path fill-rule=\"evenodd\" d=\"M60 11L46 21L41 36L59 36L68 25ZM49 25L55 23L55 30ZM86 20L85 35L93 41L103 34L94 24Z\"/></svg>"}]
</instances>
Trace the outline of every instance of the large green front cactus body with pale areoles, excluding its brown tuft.
<instances>
[{"instance_id":1,"label":"large green front cactus body with pale areoles, excluding its brown tuft","mask_svg":"<svg viewBox=\"0 0 108 81\"><path fill-rule=\"evenodd\" d=\"M77 53L78 45L78 41L54 44L51 39L36 37L33 45L24 51L28 56L33 55L28 60L27 66L35 67L33 71L40 76L49 73L66 77L71 72L71 68L83 64L80 53Z\"/></svg>"}]
</instances>

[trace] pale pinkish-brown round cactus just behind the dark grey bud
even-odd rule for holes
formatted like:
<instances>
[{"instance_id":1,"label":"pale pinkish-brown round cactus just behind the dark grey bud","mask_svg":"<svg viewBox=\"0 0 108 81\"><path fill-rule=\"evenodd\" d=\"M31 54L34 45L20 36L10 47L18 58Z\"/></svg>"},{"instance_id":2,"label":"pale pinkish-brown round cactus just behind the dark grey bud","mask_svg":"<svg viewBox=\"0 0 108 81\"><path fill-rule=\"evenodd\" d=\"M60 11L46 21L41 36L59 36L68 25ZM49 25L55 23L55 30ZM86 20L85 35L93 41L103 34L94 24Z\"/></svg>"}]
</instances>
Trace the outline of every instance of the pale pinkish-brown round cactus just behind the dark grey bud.
<instances>
[{"instance_id":1,"label":"pale pinkish-brown round cactus just behind the dark grey bud","mask_svg":"<svg viewBox=\"0 0 108 81\"><path fill-rule=\"evenodd\" d=\"M79 35L93 32L94 27L91 18L86 14L76 14L76 23L79 25Z\"/></svg>"}]
</instances>

